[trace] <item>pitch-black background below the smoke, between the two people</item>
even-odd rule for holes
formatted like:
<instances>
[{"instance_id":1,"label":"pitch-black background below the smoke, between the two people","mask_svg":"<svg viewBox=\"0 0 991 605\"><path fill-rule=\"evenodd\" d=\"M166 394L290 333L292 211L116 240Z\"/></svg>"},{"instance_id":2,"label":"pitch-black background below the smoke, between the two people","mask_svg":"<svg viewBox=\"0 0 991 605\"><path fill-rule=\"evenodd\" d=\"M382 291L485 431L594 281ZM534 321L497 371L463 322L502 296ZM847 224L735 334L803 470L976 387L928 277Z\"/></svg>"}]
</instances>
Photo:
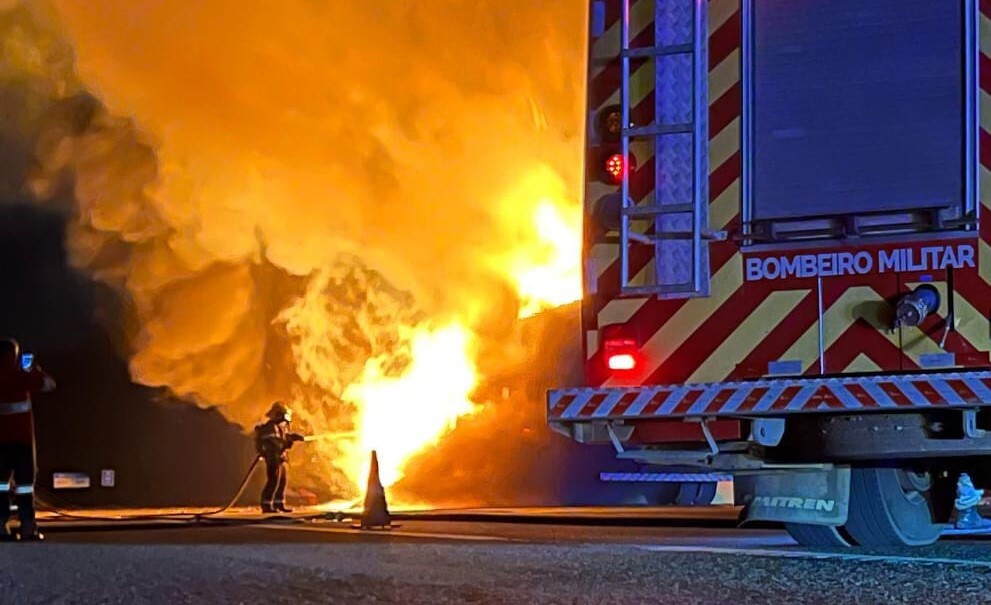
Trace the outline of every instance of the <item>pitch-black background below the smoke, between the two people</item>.
<instances>
[{"instance_id":1,"label":"pitch-black background below the smoke, between the two people","mask_svg":"<svg viewBox=\"0 0 991 605\"><path fill-rule=\"evenodd\" d=\"M56 470L117 471L117 487L58 492L101 505L213 504L229 498L251 444L214 410L133 385L113 345L118 301L70 268L64 219L0 201L0 334L20 340L59 383L36 402L39 489ZM44 494L42 493L42 496Z\"/></svg>"}]
</instances>

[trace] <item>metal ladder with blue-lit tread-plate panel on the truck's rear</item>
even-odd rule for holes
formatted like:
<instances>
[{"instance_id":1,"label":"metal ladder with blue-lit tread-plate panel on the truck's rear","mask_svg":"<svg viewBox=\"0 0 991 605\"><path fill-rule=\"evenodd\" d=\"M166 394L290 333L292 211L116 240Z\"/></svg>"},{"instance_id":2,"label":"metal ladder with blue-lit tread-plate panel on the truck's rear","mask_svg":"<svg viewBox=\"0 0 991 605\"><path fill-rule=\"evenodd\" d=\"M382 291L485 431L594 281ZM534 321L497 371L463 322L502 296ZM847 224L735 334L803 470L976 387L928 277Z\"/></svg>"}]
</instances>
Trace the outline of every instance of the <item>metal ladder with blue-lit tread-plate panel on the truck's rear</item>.
<instances>
[{"instance_id":1,"label":"metal ladder with blue-lit tread-plate panel on the truck's rear","mask_svg":"<svg viewBox=\"0 0 991 605\"><path fill-rule=\"evenodd\" d=\"M645 1L645 0L640 0ZM630 170L623 173L620 213L621 292L660 297L709 294L708 240L725 237L708 229L708 20L707 2L646 0L655 3L654 46L632 47L630 6L621 0L622 154L631 143L652 140L655 187L652 199L630 199ZM655 62L652 124L631 123L631 60ZM633 222L653 223L653 233ZM648 231L648 230L644 230ZM654 280L632 283L633 246L654 247Z\"/></svg>"}]
</instances>

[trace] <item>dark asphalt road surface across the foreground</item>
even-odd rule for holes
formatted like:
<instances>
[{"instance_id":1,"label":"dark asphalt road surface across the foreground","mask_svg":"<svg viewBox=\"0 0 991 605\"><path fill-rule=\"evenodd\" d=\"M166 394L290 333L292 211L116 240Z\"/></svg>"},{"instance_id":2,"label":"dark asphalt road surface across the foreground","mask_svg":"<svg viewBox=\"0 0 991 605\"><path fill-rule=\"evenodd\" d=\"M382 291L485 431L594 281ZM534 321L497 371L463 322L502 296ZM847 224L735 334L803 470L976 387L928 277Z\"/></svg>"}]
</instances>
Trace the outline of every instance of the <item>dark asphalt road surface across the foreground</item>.
<instances>
[{"instance_id":1,"label":"dark asphalt road surface across the foreground","mask_svg":"<svg viewBox=\"0 0 991 605\"><path fill-rule=\"evenodd\" d=\"M45 543L0 545L0 603L991 603L991 538L810 550L702 515L49 523Z\"/></svg>"}]
</instances>

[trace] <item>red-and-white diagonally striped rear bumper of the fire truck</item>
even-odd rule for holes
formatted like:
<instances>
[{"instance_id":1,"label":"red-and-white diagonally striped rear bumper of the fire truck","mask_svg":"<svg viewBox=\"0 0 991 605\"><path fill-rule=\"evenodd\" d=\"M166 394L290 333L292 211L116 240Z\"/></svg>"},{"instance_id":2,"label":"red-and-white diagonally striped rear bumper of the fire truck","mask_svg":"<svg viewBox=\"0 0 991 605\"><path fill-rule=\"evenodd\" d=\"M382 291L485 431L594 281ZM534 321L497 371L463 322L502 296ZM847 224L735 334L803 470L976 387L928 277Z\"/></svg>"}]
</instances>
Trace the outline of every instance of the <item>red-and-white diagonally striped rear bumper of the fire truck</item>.
<instances>
[{"instance_id":1,"label":"red-and-white diagonally striped rear bumper of the fire truck","mask_svg":"<svg viewBox=\"0 0 991 605\"><path fill-rule=\"evenodd\" d=\"M991 405L991 371L555 389L547 393L547 420L568 424L716 416L751 418L978 405Z\"/></svg>"}]
</instances>

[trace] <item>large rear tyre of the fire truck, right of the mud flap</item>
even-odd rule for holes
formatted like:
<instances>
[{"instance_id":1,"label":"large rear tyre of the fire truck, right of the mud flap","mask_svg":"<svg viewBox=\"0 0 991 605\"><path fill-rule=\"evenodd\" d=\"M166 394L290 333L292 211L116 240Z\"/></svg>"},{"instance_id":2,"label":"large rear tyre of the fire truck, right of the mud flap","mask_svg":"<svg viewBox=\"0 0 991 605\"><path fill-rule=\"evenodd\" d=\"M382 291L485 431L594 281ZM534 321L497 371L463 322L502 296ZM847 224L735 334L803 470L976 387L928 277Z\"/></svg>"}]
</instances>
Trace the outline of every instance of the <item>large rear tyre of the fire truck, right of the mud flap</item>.
<instances>
[{"instance_id":1,"label":"large rear tyre of the fire truck, right of the mud flap","mask_svg":"<svg viewBox=\"0 0 991 605\"><path fill-rule=\"evenodd\" d=\"M861 546L926 546L943 526L933 521L927 474L895 468L853 469L846 531Z\"/></svg>"}]
</instances>

